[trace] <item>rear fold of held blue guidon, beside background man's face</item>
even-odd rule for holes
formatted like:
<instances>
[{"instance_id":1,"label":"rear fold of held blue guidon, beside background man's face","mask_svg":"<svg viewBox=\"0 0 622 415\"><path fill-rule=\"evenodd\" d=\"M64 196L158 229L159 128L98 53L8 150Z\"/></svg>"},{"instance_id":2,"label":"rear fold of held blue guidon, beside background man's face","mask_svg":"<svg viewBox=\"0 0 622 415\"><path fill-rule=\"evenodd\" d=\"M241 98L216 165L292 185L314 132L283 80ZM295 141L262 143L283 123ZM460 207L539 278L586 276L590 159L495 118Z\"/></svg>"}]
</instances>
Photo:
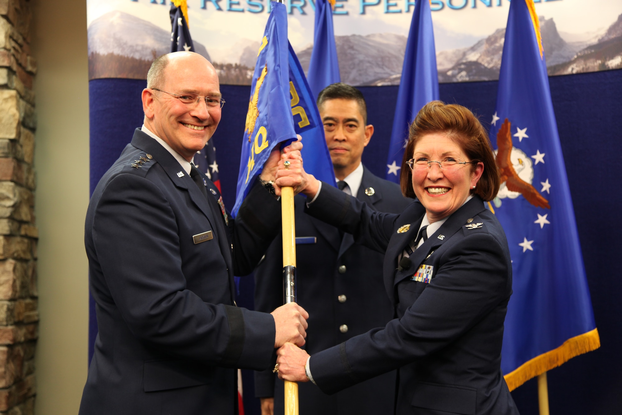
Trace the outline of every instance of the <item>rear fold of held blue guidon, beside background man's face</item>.
<instances>
[{"instance_id":1,"label":"rear fold of held blue guidon, beside background man's face","mask_svg":"<svg viewBox=\"0 0 622 415\"><path fill-rule=\"evenodd\" d=\"M294 129L302 136L302 160L305 171L316 179L336 185L333 162L324 137L324 126L300 62L289 45L289 93Z\"/></svg>"}]
</instances>

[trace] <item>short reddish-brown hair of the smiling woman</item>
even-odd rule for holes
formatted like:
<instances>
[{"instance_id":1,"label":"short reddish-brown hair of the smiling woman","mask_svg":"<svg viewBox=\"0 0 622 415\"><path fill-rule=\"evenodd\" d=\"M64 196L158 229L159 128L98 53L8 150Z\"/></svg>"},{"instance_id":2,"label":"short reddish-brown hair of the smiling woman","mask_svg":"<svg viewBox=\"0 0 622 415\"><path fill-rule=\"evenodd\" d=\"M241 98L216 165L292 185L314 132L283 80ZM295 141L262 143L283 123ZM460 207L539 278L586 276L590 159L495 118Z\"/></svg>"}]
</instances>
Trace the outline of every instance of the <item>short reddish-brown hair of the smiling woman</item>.
<instances>
[{"instance_id":1,"label":"short reddish-brown hair of the smiling woman","mask_svg":"<svg viewBox=\"0 0 622 415\"><path fill-rule=\"evenodd\" d=\"M409 128L409 138L404 150L400 185L407 198L415 198L412 188L412 171L407 161L414 154L417 141L424 135L445 133L455 141L470 161L484 163L484 172L471 194L477 194L485 201L494 199L499 191L499 169L495 161L488 133L470 110L457 104L432 101L424 105ZM476 164L471 165L475 171Z\"/></svg>"}]
</instances>

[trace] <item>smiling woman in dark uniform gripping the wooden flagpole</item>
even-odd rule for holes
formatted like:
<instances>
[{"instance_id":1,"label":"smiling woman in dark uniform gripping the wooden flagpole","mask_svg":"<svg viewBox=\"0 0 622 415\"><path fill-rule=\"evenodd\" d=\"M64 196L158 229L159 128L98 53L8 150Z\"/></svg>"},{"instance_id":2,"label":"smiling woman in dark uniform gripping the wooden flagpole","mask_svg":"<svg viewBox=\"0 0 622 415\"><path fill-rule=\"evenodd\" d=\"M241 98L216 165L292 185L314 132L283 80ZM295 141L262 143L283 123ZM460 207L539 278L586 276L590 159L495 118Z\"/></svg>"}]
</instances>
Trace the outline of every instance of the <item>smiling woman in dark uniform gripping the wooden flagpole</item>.
<instances>
[{"instance_id":1,"label":"smiling woman in dark uniform gripping the wooden flagpole","mask_svg":"<svg viewBox=\"0 0 622 415\"><path fill-rule=\"evenodd\" d=\"M302 170L302 160L287 168L278 175ZM516 415L501 373L512 265L501 224L485 207L499 190L488 135L465 107L430 102L410 127L401 171L402 193L419 199L424 216L412 205L376 212L311 175L292 179L309 214L386 252L395 318L313 356L285 343L275 371L331 394L398 369L397 414Z\"/></svg>"}]
</instances>

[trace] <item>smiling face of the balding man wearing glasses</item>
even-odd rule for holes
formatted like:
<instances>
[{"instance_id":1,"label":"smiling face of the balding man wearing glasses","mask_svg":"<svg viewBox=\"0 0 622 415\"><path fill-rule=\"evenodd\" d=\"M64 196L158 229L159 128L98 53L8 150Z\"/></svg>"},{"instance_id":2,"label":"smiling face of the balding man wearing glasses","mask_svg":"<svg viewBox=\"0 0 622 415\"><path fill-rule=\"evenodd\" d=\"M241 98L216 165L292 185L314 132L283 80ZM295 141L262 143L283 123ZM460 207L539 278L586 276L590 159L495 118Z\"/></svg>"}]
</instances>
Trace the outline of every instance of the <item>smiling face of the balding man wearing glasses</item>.
<instances>
[{"instance_id":1,"label":"smiling face of the balding man wearing glasses","mask_svg":"<svg viewBox=\"0 0 622 415\"><path fill-rule=\"evenodd\" d=\"M193 52L169 55L158 89L183 95L220 97L218 75L207 59ZM208 108L205 100L185 104L174 95L146 88L142 91L145 125L186 160L202 150L220 122L220 106Z\"/></svg>"}]
</instances>

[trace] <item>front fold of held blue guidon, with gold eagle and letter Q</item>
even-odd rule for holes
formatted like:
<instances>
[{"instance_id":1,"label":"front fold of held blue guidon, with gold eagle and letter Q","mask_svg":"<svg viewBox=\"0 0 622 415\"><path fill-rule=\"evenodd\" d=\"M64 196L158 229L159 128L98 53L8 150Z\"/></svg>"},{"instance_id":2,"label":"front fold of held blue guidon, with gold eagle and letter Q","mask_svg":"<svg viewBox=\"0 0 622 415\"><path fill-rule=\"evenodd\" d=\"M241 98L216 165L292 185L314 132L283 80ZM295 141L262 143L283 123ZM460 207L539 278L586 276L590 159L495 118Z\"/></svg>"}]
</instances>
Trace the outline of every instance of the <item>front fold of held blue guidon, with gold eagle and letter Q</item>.
<instances>
[{"instance_id":1,"label":"front fold of held blue guidon, with gold eagle and letter Q","mask_svg":"<svg viewBox=\"0 0 622 415\"><path fill-rule=\"evenodd\" d=\"M289 94L288 45L285 4L273 1L251 83L233 216L272 148L282 141L296 140Z\"/></svg>"}]
</instances>

